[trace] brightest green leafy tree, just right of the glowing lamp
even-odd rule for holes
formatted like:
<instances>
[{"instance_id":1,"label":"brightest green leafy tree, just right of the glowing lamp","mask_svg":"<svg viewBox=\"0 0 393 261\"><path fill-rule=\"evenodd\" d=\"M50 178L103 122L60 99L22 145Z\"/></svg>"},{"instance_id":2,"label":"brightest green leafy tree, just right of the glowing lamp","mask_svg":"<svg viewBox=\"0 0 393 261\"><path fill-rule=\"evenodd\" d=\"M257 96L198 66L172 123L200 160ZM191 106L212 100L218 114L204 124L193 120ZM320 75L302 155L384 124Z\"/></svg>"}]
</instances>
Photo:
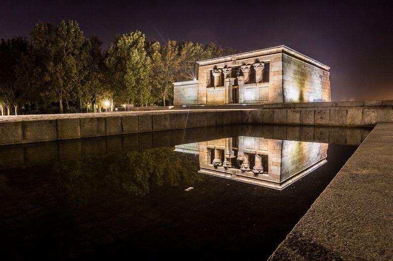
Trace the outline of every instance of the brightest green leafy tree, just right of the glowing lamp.
<instances>
[{"instance_id":1,"label":"brightest green leafy tree, just right of the glowing lamp","mask_svg":"<svg viewBox=\"0 0 393 261\"><path fill-rule=\"evenodd\" d=\"M149 99L150 60L140 31L116 35L105 64L111 90L121 103L143 105Z\"/></svg>"}]
</instances>

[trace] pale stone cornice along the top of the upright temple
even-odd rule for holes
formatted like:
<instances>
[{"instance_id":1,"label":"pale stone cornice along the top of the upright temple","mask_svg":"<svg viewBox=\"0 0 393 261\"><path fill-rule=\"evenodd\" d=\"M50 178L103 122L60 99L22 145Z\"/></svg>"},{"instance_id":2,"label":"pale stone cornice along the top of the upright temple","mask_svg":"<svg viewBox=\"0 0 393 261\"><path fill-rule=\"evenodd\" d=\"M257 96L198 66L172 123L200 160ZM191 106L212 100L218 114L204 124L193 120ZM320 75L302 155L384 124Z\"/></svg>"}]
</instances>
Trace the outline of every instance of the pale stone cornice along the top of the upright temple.
<instances>
[{"instance_id":1,"label":"pale stone cornice along the top of the upright temple","mask_svg":"<svg viewBox=\"0 0 393 261\"><path fill-rule=\"evenodd\" d=\"M270 47L270 48L265 48L265 49L260 49L260 50L255 50L255 51L249 51L249 52L242 52L238 54L233 54L233 55L227 55L223 57L217 57L213 59L208 59L208 60L203 60L203 61L197 61L199 66L204 66L204 65L210 65L210 64L217 64L217 63L225 63L225 62L230 62L230 61L236 61L236 60L242 60L242 59L247 59L247 58L253 58L261 55L268 55L268 54L274 54L274 53L285 53L287 55L290 55L292 57L298 58L300 60L303 60L311 65L314 65L316 67L319 67L323 70L329 71L330 67L298 52L295 51L294 49L291 49L286 46L278 46L278 47Z\"/></svg>"}]
</instances>

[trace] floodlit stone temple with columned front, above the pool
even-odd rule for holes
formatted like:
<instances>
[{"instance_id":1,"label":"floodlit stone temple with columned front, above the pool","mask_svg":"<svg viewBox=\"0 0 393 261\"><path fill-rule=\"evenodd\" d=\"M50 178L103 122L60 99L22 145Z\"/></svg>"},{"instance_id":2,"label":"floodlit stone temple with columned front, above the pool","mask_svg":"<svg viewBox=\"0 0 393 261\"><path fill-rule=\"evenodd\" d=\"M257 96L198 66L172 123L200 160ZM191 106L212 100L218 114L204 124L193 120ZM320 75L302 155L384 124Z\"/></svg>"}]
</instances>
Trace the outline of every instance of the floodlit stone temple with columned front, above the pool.
<instances>
[{"instance_id":1,"label":"floodlit stone temple with columned front, above the pool","mask_svg":"<svg viewBox=\"0 0 393 261\"><path fill-rule=\"evenodd\" d=\"M331 101L329 67L285 46L197 62L175 82L174 105Z\"/></svg>"}]
</instances>

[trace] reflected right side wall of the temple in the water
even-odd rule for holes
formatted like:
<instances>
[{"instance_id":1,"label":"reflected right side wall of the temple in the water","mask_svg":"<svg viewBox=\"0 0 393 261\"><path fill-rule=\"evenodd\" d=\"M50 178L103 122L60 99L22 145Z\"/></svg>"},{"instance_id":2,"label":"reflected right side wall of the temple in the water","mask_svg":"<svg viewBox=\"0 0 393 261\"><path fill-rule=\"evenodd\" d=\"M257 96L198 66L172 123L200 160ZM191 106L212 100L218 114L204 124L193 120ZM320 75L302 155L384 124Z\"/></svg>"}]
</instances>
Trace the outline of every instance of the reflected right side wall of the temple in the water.
<instances>
[{"instance_id":1,"label":"reflected right side wall of the temple in the water","mask_svg":"<svg viewBox=\"0 0 393 261\"><path fill-rule=\"evenodd\" d=\"M327 143L282 141L280 181L325 159L327 150Z\"/></svg>"}]
</instances>

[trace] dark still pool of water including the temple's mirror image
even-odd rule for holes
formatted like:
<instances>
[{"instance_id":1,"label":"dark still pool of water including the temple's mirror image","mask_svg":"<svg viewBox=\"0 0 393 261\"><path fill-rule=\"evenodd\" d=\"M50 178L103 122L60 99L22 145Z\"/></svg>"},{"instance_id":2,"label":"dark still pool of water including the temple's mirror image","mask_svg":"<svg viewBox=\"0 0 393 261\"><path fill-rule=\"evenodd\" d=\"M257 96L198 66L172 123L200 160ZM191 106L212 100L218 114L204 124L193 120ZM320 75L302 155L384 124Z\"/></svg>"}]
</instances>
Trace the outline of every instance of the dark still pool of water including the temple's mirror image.
<instances>
[{"instance_id":1,"label":"dark still pool of water including the temple's mirror image","mask_svg":"<svg viewBox=\"0 0 393 261\"><path fill-rule=\"evenodd\" d=\"M2 256L266 260L368 133L236 125L0 147Z\"/></svg>"}]
</instances>

